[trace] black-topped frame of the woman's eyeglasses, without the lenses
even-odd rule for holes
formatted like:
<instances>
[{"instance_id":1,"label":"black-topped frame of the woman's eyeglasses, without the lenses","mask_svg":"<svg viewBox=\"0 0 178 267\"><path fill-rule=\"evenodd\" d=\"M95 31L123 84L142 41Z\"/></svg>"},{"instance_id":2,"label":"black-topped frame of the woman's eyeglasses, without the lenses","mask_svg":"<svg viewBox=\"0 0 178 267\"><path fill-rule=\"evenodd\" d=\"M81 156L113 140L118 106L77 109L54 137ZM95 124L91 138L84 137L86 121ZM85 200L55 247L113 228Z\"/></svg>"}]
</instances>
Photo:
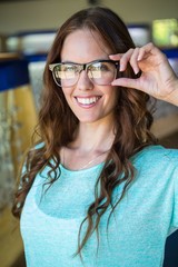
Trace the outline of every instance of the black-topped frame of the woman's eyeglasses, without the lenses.
<instances>
[{"instance_id":1,"label":"black-topped frame of the woman's eyeglasses, without the lenses","mask_svg":"<svg viewBox=\"0 0 178 267\"><path fill-rule=\"evenodd\" d=\"M88 69L88 67L90 66L90 65L93 65L93 63L102 63L102 62L107 62L107 63L112 63L112 65L115 65L115 67L116 67L116 70L118 70L118 67L120 66L119 65L119 61L115 61L115 60L111 60L111 59L100 59L100 60L93 60L93 61L91 61L91 62L89 62L89 63L75 63L75 62L59 62L59 63L51 63L51 65L49 65L49 70L52 72L52 77L53 77L53 80L55 80L55 82L57 83L57 86L59 86L59 87L62 87L60 83L58 83L58 81L57 81L57 79L56 79L56 76L55 76L55 68L57 67L57 66L59 66L59 65L73 65L73 66L78 66L78 67L80 67L79 68L79 73L82 71L82 70L87 70ZM116 77L117 77L117 71L116 71L116 73L115 73L115 78L113 79L116 79ZM78 78L79 79L79 78ZM76 80L76 82L72 85L72 86L75 86L77 82L78 82L78 79ZM89 78L90 79L90 78ZM91 79L90 79L91 80ZM92 83L95 83L92 80L91 80L91 82Z\"/></svg>"}]
</instances>

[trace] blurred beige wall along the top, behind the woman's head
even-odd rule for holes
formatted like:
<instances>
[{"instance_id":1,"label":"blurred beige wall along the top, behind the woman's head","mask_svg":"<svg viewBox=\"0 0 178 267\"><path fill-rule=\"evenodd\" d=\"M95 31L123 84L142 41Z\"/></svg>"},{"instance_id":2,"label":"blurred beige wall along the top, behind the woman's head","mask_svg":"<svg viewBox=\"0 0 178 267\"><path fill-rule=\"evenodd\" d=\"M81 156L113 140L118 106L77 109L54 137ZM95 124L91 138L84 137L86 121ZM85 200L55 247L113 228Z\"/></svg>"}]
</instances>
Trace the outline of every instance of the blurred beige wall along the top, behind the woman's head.
<instances>
[{"instance_id":1,"label":"blurred beige wall along the top, behind the woman's head","mask_svg":"<svg viewBox=\"0 0 178 267\"><path fill-rule=\"evenodd\" d=\"M178 0L100 0L125 22L178 18ZM89 7L87 0L23 0L0 3L0 33L58 28L71 13Z\"/></svg>"}]
</instances>

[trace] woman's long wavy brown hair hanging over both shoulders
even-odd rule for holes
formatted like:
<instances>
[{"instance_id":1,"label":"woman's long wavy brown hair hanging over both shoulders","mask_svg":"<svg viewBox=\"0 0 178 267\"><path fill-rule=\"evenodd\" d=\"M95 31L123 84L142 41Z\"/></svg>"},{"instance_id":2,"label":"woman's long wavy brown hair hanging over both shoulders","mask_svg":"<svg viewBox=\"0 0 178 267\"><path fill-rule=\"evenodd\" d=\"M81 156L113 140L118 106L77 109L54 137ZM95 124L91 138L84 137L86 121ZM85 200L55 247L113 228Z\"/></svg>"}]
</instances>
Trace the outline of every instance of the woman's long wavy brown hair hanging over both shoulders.
<instances>
[{"instance_id":1,"label":"woman's long wavy brown hair hanging over both shoulders","mask_svg":"<svg viewBox=\"0 0 178 267\"><path fill-rule=\"evenodd\" d=\"M97 32L112 53L123 53L128 49L135 48L126 24L113 11L107 8L97 7L78 11L60 27L47 58L43 73L42 103L39 112L39 123L36 128L36 134L40 137L39 142L43 142L43 146L36 147L33 144L33 148L27 154L26 172L20 177L21 187L17 189L12 208L16 217L20 217L26 196L37 174L42 171L46 166L50 167L48 172L50 184L60 179L60 148L73 140L73 132L78 128L79 121L70 110L62 90L55 83L49 70L50 63L60 62L61 49L67 36L78 29ZM138 78L130 66L122 76ZM127 88L119 88L119 92L115 110L116 138L98 177L95 187L95 201L88 208L86 219L81 222L79 229L77 254L80 255L88 238L95 230L99 236L99 222L108 206L111 206L112 214L134 180L135 168L131 165L130 157L144 147L155 144L155 138L150 132L152 115L147 108L149 96ZM113 204L112 191L121 182L125 182L121 197ZM98 188L100 189L98 190ZM88 225L86 235L81 239L83 222Z\"/></svg>"}]
</instances>

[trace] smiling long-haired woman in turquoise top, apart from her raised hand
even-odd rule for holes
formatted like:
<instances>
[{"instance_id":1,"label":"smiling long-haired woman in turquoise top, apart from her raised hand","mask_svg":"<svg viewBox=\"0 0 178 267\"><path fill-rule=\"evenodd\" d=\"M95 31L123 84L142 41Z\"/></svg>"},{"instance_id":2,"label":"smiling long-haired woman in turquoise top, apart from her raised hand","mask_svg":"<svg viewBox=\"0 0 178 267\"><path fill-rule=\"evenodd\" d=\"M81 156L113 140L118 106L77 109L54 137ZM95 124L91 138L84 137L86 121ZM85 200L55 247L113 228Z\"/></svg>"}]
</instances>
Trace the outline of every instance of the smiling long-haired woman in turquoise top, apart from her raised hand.
<instances>
[{"instance_id":1,"label":"smiling long-haired woman in turquoise top, apart from her raised hand","mask_svg":"<svg viewBox=\"0 0 178 267\"><path fill-rule=\"evenodd\" d=\"M41 139L13 207L27 266L161 266L178 226L178 151L156 145L148 95L117 85L142 78L131 68L141 67L136 51L109 9L81 10L59 29L44 70Z\"/></svg>"}]
</instances>

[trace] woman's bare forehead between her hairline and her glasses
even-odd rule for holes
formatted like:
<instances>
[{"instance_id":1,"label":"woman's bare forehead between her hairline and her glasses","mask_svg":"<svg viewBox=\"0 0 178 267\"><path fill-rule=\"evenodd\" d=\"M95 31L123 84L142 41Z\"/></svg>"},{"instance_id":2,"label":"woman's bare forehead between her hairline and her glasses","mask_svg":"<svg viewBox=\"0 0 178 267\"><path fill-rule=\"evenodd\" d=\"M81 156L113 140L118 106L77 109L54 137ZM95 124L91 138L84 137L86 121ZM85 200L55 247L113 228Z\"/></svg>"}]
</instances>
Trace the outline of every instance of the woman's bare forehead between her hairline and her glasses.
<instances>
[{"instance_id":1,"label":"woman's bare forehead between her hairline and her glasses","mask_svg":"<svg viewBox=\"0 0 178 267\"><path fill-rule=\"evenodd\" d=\"M110 53L110 49L99 33L80 29L69 33L65 39L61 60L85 63L97 59L108 59Z\"/></svg>"}]
</instances>

